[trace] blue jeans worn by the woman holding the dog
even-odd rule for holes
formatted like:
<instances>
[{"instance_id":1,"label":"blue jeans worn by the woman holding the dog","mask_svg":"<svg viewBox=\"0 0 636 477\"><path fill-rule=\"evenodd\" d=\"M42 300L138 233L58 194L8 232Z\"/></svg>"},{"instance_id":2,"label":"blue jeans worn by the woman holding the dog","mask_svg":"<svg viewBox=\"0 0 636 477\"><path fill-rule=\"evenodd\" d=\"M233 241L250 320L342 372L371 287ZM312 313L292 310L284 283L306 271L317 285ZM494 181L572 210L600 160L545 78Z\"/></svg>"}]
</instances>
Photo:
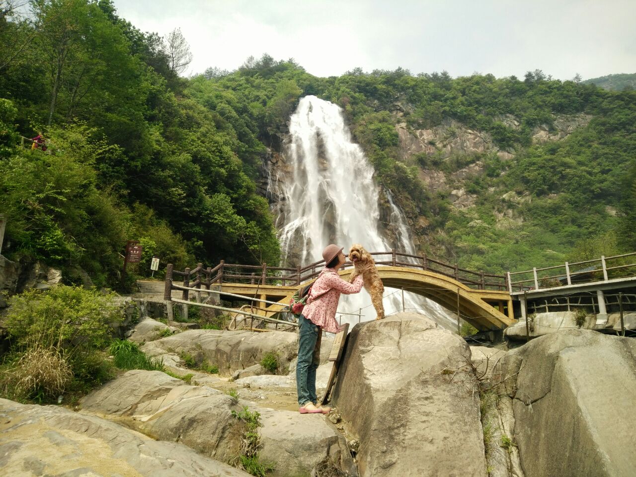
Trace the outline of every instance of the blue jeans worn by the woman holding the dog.
<instances>
[{"instance_id":1,"label":"blue jeans worn by the woman holding the dog","mask_svg":"<svg viewBox=\"0 0 636 477\"><path fill-rule=\"evenodd\" d=\"M315 326L303 315L298 317L298 363L296 364L296 390L298 404L318 401L316 396L316 370L320 364L322 328Z\"/></svg>"}]
</instances>

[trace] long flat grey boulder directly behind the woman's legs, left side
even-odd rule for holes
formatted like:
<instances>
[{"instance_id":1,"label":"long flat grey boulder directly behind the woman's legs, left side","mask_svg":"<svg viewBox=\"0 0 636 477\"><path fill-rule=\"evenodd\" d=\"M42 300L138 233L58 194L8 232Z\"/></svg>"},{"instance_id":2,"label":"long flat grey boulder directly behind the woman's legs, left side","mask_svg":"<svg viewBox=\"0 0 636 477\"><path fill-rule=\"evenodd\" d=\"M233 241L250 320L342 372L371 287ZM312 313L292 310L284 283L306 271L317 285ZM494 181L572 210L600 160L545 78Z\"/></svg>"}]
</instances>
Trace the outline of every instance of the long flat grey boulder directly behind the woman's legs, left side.
<instances>
[{"instance_id":1,"label":"long flat grey boulder directly behind the woman's legs, left side","mask_svg":"<svg viewBox=\"0 0 636 477\"><path fill-rule=\"evenodd\" d=\"M260 363L266 352L275 352L279 369L286 370L298 354L298 335L286 331L255 333L243 330L190 329L146 343L142 350L149 356L162 356L167 352L190 354L197 364L207 360L219 367L221 375Z\"/></svg>"}]
</instances>

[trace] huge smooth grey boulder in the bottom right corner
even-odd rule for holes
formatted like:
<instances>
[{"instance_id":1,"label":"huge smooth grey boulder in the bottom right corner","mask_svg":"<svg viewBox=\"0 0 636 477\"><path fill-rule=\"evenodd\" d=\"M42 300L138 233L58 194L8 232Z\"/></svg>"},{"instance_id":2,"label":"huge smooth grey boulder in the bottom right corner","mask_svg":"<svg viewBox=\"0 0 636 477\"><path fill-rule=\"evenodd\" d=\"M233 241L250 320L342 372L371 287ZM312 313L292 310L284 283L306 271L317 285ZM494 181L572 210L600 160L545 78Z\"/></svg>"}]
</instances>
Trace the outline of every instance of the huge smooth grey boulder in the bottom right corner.
<instances>
[{"instance_id":1,"label":"huge smooth grey boulder in the bottom right corner","mask_svg":"<svg viewBox=\"0 0 636 477\"><path fill-rule=\"evenodd\" d=\"M497 366L513 400L525 477L632 476L636 342L572 329L511 350Z\"/></svg>"}]
</instances>

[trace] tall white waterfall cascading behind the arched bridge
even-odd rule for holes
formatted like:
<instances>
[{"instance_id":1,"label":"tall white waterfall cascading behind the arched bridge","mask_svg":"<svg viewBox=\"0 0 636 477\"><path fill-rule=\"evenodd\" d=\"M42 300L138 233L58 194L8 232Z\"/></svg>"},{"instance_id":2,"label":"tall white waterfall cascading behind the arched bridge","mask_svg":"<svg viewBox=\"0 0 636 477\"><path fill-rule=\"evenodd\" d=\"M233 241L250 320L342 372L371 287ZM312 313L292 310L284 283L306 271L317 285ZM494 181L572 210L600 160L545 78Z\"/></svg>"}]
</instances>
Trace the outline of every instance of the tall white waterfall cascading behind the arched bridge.
<instances>
[{"instance_id":1,"label":"tall white waterfall cascading behind the arched bridge","mask_svg":"<svg viewBox=\"0 0 636 477\"><path fill-rule=\"evenodd\" d=\"M334 243L348 251L354 243L369 251L396 248L408 254L415 249L401 211L391 193L385 191L391 207L390 226L396 244L382 237L378 227L380 190L373 181L373 167L360 146L352 142L340 107L306 96L289 121L291 142L284 151L284 167L270 177L270 190L282 198L277 227L284 261L308 265L322 258L322 249ZM385 289L384 307L391 314L403 307L425 310L449 326L448 312L415 294ZM375 318L368 294L363 291L340 299L338 312L358 313L362 320ZM357 316L343 315L342 322L355 323Z\"/></svg>"}]
</instances>

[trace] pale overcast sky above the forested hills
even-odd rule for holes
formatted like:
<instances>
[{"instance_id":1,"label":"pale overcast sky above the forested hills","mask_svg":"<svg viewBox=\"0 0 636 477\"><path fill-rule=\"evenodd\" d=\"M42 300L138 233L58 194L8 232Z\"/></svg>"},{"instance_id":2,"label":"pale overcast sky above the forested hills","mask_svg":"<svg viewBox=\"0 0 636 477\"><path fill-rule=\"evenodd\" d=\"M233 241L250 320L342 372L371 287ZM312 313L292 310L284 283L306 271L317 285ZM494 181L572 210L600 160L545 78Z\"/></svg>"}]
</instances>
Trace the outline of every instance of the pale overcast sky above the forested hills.
<instances>
[{"instance_id":1,"label":"pale overcast sky above the forested hills","mask_svg":"<svg viewBox=\"0 0 636 477\"><path fill-rule=\"evenodd\" d=\"M181 31L190 71L269 53L316 76L396 69L555 78L636 73L636 0L114 0L142 31Z\"/></svg>"}]
</instances>

